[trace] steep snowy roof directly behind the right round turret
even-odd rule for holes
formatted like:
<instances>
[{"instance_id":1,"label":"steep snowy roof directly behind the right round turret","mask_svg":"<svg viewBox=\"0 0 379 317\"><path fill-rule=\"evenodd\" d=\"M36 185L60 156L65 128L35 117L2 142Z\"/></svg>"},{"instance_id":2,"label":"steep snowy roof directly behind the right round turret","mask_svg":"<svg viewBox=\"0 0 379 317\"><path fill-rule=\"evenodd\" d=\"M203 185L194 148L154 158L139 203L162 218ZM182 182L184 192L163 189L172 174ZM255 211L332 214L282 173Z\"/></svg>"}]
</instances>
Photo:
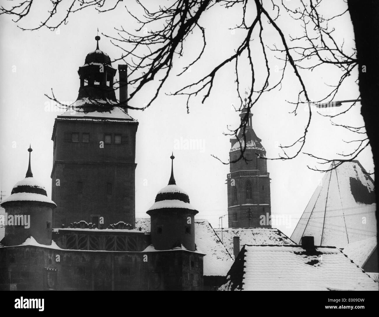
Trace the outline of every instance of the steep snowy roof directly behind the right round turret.
<instances>
[{"instance_id":1,"label":"steep snowy roof directly behind the right round turret","mask_svg":"<svg viewBox=\"0 0 379 317\"><path fill-rule=\"evenodd\" d=\"M150 219L136 218L135 228L150 232ZM233 264L233 258L208 220L195 219L195 243L206 254L203 262L204 276L225 276Z\"/></svg>"}]
</instances>

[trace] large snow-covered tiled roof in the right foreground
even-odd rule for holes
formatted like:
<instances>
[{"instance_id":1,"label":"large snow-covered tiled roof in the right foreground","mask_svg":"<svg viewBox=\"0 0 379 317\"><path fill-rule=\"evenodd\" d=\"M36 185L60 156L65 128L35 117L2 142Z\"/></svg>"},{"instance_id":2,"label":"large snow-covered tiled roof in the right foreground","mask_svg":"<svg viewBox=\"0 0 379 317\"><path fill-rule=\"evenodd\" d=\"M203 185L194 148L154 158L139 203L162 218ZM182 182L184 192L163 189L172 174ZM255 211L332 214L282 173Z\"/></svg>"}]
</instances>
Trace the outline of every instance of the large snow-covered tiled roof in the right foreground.
<instances>
[{"instance_id":1,"label":"large snow-covered tiled roof in the right foreground","mask_svg":"<svg viewBox=\"0 0 379 317\"><path fill-rule=\"evenodd\" d=\"M378 290L378 284L335 247L317 255L299 246L249 246L220 290Z\"/></svg>"}]
</instances>

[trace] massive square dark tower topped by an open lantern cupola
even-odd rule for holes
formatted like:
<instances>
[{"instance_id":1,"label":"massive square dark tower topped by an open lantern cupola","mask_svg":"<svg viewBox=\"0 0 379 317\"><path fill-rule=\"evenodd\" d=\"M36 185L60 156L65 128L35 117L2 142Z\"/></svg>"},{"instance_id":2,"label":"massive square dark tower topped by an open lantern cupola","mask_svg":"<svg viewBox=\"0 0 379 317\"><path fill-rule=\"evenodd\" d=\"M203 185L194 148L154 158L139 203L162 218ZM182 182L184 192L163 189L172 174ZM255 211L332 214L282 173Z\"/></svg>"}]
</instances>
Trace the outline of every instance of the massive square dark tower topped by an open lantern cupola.
<instances>
[{"instance_id":1,"label":"massive square dark tower topped by an open lantern cupola","mask_svg":"<svg viewBox=\"0 0 379 317\"><path fill-rule=\"evenodd\" d=\"M53 227L85 220L98 228L124 221L135 226L135 139L138 122L127 113L127 70L117 70L99 49L79 67L78 98L55 119L52 141Z\"/></svg>"}]
</instances>

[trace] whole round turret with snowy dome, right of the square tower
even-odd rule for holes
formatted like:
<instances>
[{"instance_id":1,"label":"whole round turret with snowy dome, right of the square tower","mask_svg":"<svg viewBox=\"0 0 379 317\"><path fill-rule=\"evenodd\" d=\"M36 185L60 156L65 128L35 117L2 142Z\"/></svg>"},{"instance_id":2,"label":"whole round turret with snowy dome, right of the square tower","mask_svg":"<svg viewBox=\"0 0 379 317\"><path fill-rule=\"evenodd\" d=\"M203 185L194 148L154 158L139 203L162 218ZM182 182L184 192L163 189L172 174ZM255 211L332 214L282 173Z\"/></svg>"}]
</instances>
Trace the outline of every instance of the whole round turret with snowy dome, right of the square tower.
<instances>
[{"instance_id":1,"label":"whole round turret with snowy dome, right of the square tower","mask_svg":"<svg viewBox=\"0 0 379 317\"><path fill-rule=\"evenodd\" d=\"M152 244L156 250L170 250L183 245L195 251L194 216L198 213L189 203L189 197L176 185L171 155L171 177L161 189L155 203L146 212L151 217Z\"/></svg>"}]
</instances>

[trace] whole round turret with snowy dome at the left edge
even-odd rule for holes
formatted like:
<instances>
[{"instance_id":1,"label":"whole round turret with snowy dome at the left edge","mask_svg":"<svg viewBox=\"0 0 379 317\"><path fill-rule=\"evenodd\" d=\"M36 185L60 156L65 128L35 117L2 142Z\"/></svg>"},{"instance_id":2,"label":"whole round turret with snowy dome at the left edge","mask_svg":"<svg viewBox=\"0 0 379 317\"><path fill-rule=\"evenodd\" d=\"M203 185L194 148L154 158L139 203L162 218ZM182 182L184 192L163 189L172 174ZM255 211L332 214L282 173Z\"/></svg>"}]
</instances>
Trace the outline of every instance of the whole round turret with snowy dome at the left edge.
<instances>
[{"instance_id":1,"label":"whole round turret with snowy dome at the left edge","mask_svg":"<svg viewBox=\"0 0 379 317\"><path fill-rule=\"evenodd\" d=\"M29 167L25 178L13 186L11 195L3 200L8 219L1 244L20 245L29 237L44 245L52 243L52 214L55 203L47 197L45 188L36 181Z\"/></svg>"}]
</instances>

